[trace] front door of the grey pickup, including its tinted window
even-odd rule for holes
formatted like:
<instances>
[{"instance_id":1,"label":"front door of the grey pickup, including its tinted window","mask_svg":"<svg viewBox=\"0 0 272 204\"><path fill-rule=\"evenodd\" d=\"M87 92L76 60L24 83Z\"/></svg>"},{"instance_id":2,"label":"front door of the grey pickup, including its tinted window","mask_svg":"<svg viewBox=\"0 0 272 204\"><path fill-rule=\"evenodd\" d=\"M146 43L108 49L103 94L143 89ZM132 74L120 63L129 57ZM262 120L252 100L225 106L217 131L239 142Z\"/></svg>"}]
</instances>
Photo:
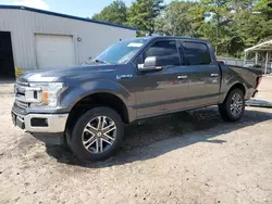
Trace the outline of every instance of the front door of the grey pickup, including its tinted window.
<instances>
[{"instance_id":1,"label":"front door of the grey pickup, including its tinted window","mask_svg":"<svg viewBox=\"0 0 272 204\"><path fill-rule=\"evenodd\" d=\"M176 40L157 40L140 55L137 64L148 56L160 58L163 71L138 74L136 110L137 117L148 117L177 110L181 106L180 94L186 98L188 84L184 80L182 59Z\"/></svg>"}]
</instances>

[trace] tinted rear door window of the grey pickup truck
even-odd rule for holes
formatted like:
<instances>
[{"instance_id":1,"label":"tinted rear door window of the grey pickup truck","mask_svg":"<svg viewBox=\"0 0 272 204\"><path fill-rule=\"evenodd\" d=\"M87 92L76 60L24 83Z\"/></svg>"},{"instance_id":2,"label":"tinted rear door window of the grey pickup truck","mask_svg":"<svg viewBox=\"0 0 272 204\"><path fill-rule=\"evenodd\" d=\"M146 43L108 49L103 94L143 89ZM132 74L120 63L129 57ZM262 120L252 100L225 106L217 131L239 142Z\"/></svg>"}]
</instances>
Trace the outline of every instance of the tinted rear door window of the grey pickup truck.
<instances>
[{"instance_id":1,"label":"tinted rear door window of the grey pickup truck","mask_svg":"<svg viewBox=\"0 0 272 204\"><path fill-rule=\"evenodd\" d=\"M210 64L211 56L208 47L201 42L182 42L188 65Z\"/></svg>"}]
</instances>

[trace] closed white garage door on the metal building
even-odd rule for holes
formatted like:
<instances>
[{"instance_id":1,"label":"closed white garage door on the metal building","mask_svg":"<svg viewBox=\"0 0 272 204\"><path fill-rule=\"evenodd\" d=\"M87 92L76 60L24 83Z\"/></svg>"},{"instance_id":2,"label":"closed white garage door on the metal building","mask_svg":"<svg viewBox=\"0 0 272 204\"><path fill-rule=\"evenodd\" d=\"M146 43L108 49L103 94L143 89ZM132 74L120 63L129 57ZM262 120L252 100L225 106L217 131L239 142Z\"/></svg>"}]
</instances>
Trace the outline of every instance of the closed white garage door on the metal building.
<instances>
[{"instance_id":1,"label":"closed white garage door on the metal building","mask_svg":"<svg viewBox=\"0 0 272 204\"><path fill-rule=\"evenodd\" d=\"M38 68L75 65L72 36L35 35Z\"/></svg>"}]
</instances>

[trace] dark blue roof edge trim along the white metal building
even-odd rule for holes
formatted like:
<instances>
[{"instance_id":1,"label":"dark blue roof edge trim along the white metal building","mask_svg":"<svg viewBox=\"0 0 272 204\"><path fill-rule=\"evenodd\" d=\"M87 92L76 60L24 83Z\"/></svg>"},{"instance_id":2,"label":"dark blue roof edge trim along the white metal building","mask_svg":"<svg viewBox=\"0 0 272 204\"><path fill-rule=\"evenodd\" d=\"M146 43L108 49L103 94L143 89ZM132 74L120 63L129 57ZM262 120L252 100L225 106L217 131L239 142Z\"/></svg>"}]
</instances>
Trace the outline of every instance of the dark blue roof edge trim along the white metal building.
<instances>
[{"instance_id":1,"label":"dark blue roof edge trim along the white metal building","mask_svg":"<svg viewBox=\"0 0 272 204\"><path fill-rule=\"evenodd\" d=\"M84 17L77 17L77 16L55 13L55 12L51 12L51 11L44 11L44 10L39 10L39 9L27 8L27 7L23 7L23 5L1 5L0 4L0 9L25 10L25 11L32 11L32 12L42 13L42 14L47 14L47 15L53 15L53 16L58 16L58 17L66 17L66 18L71 18L71 20L77 20L77 21L89 22L89 23L95 23L95 24L102 24L102 25L108 25L108 26L113 26L113 27L121 27L124 29L137 30L137 28L131 27L131 26L124 26L124 25L120 25L120 24L113 24L113 23L108 23L108 22L100 22L100 21L95 21L95 20L89 20L89 18L84 18Z\"/></svg>"}]
</instances>

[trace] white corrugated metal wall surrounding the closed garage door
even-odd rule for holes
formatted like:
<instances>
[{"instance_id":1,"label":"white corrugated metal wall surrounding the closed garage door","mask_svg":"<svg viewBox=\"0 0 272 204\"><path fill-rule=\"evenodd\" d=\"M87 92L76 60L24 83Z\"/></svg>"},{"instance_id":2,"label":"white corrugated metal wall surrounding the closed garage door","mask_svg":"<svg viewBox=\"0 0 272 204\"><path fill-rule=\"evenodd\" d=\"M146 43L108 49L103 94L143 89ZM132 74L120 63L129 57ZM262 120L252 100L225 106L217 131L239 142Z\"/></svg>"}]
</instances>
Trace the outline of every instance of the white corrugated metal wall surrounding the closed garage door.
<instances>
[{"instance_id":1,"label":"white corrugated metal wall surrounding the closed garage door","mask_svg":"<svg viewBox=\"0 0 272 204\"><path fill-rule=\"evenodd\" d=\"M136 37L132 29L13 9L0 9L0 30L11 31L14 65L20 69L37 66L35 34L73 36L76 64L94 59L120 39Z\"/></svg>"}]
</instances>

